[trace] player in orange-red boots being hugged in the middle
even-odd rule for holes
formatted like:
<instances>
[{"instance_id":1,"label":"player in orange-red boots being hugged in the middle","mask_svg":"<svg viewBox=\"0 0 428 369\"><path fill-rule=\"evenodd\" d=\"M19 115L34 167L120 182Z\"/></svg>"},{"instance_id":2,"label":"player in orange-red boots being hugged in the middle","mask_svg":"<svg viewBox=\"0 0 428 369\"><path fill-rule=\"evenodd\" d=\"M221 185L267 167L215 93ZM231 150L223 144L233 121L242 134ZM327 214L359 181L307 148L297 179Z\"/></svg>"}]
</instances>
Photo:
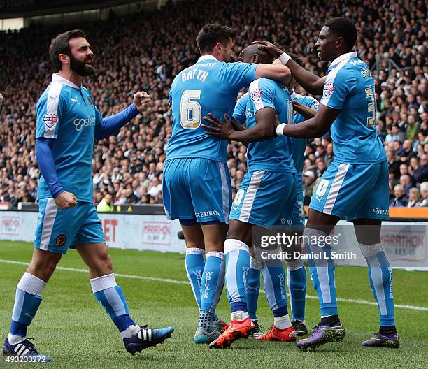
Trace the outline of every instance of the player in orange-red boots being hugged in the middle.
<instances>
[{"instance_id":1,"label":"player in orange-red boots being hugged in the middle","mask_svg":"<svg viewBox=\"0 0 428 369\"><path fill-rule=\"evenodd\" d=\"M245 48L240 58L254 63L272 61L269 54L261 52L255 45ZM286 224L291 218L297 187L292 142L290 138L278 140L274 134L277 115L281 121L292 122L292 101L284 85L289 81L290 78L283 83L260 78L250 84L245 108L247 129L243 131L234 131L226 115L224 124L211 113L208 114L211 118L204 117L213 124L202 125L208 134L248 143L248 173L232 203L229 233L224 241L231 323L210 348L229 347L255 330L248 313L253 226L269 229L276 224ZM264 261L264 267L264 287L273 310L274 324L268 333L257 339L295 341L296 334L288 317L283 264L280 259L271 259Z\"/></svg>"}]
</instances>

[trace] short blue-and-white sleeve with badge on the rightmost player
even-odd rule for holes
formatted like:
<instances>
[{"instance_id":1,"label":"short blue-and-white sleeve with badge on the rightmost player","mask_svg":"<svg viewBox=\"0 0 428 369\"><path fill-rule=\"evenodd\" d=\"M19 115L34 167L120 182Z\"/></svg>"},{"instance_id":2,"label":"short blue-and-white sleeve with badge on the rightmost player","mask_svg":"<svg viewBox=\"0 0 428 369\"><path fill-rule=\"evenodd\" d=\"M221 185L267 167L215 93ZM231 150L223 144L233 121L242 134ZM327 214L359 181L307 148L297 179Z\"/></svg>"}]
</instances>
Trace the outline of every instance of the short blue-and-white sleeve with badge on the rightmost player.
<instances>
[{"instance_id":1,"label":"short blue-and-white sleeve with badge on the rightmost player","mask_svg":"<svg viewBox=\"0 0 428 369\"><path fill-rule=\"evenodd\" d=\"M320 103L329 108L341 109L346 98L357 85L357 80L348 68L331 71L324 82Z\"/></svg>"}]
</instances>

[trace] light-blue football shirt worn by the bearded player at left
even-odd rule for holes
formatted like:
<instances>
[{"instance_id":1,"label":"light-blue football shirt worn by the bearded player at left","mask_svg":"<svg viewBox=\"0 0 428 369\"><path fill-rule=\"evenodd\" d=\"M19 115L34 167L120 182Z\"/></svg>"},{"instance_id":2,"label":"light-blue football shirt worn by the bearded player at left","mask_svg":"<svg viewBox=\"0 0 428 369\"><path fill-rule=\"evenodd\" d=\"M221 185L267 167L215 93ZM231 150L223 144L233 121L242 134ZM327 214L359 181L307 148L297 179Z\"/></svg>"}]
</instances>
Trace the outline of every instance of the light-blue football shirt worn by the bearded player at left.
<instances>
[{"instance_id":1,"label":"light-blue football shirt worn by the bearded player at left","mask_svg":"<svg viewBox=\"0 0 428 369\"><path fill-rule=\"evenodd\" d=\"M64 191L78 201L93 201L92 153L95 125L101 113L85 87L78 87L58 74L36 105L36 138L52 138L52 156ZM49 198L48 185L41 175L37 198Z\"/></svg>"}]
</instances>

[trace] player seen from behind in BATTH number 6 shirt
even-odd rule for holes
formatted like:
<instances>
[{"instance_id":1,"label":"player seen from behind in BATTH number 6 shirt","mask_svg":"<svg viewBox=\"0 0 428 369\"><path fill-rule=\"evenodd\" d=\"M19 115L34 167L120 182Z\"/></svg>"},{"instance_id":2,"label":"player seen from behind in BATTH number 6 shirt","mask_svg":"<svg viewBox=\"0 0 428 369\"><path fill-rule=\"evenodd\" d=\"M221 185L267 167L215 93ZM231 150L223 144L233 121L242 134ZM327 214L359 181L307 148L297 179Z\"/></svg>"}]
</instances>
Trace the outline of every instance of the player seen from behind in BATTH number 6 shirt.
<instances>
[{"instance_id":1,"label":"player seen from behind in BATTH number 6 shirt","mask_svg":"<svg viewBox=\"0 0 428 369\"><path fill-rule=\"evenodd\" d=\"M256 78L290 75L281 65L228 63L235 35L221 24L204 26L197 36L201 57L176 76L169 94L173 131L163 198L166 215L180 220L185 236L187 275L200 310L196 343L220 335L214 310L224 283L223 243L231 206L227 141L206 135L202 117L209 112L231 117L242 87Z\"/></svg>"}]
</instances>

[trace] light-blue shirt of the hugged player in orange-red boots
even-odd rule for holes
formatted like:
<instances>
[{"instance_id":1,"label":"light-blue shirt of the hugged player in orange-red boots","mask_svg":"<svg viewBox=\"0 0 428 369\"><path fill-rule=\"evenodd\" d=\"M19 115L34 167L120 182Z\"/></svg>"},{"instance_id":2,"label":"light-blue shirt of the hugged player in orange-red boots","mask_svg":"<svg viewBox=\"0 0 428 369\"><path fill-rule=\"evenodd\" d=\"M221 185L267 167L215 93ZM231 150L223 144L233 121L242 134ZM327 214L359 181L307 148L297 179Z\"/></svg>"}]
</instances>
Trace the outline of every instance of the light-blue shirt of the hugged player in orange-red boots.
<instances>
[{"instance_id":1,"label":"light-blue shirt of the hugged player in orange-red boots","mask_svg":"<svg viewBox=\"0 0 428 369\"><path fill-rule=\"evenodd\" d=\"M247 129L251 129L257 124L255 114L266 107L276 110L280 122L292 122L293 106L290 92L278 82L266 78L252 82L248 94L243 95L236 104L234 117L238 122L242 122L245 101ZM248 168L252 171L296 173L292 151L292 140L287 136L249 143L247 148Z\"/></svg>"}]
</instances>

